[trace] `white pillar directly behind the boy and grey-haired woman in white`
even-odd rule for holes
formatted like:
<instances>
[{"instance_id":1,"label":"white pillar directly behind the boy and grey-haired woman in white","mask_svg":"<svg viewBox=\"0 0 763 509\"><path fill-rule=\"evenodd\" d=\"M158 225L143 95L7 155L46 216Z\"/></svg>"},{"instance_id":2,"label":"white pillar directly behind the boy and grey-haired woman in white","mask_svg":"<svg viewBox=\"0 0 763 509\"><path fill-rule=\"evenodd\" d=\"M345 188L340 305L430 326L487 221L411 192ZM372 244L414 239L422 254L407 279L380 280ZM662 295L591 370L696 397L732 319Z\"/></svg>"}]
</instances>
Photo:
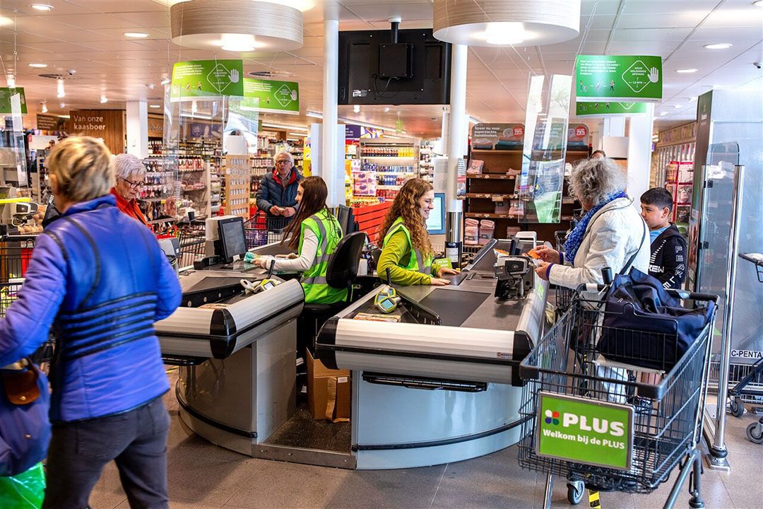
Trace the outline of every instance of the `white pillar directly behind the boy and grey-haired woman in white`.
<instances>
[{"instance_id":1,"label":"white pillar directly behind the boy and grey-haired woman in white","mask_svg":"<svg viewBox=\"0 0 763 509\"><path fill-rule=\"evenodd\" d=\"M649 103L644 114L630 117L628 129L628 195L633 198L633 206L639 211L639 198L649 189L654 120L655 105Z\"/></svg>"}]
</instances>

